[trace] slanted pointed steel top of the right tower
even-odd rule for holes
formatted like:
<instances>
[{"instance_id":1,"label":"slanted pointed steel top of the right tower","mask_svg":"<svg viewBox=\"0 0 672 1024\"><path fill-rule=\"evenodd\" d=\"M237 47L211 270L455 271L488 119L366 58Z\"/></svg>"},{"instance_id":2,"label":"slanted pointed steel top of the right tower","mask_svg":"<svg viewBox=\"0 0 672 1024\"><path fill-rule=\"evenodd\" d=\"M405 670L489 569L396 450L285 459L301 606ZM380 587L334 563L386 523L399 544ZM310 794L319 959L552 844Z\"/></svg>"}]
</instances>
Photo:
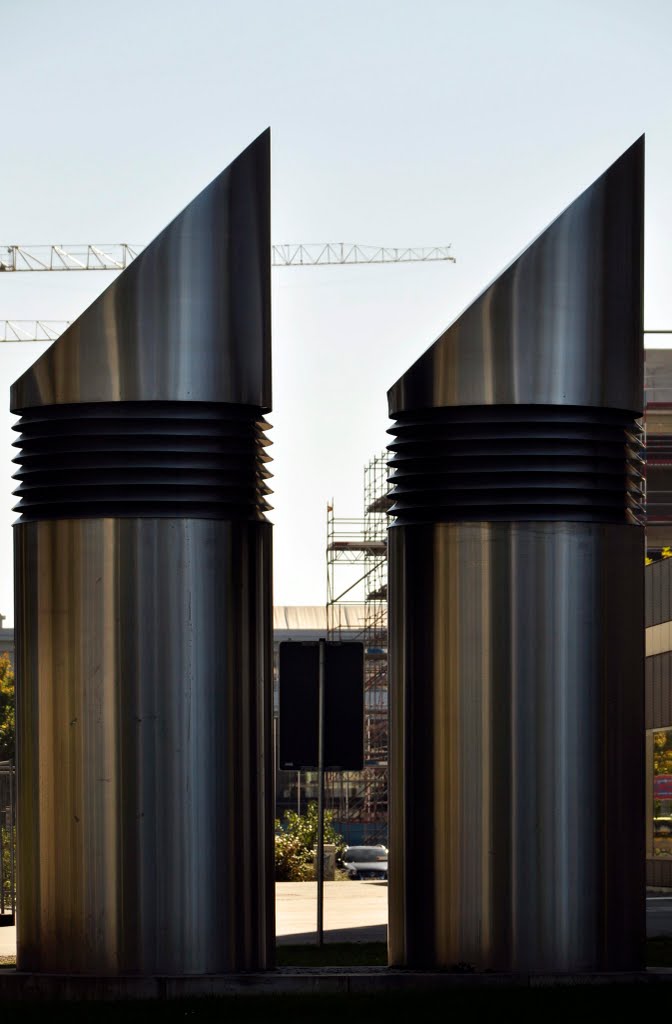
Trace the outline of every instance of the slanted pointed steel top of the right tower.
<instances>
[{"instance_id":1,"label":"slanted pointed steel top of the right tower","mask_svg":"<svg viewBox=\"0 0 672 1024\"><path fill-rule=\"evenodd\" d=\"M387 393L447 406L642 409L644 137L453 323Z\"/></svg>"}]
</instances>

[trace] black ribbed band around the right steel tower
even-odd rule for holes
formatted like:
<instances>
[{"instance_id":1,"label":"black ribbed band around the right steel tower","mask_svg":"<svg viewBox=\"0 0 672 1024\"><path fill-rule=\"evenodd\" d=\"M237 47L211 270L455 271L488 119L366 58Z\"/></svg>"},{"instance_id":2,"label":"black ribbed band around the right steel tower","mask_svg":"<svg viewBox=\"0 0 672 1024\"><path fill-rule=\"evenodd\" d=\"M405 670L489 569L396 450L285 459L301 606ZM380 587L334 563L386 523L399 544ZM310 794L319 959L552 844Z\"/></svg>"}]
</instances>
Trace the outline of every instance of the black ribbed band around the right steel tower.
<instances>
[{"instance_id":1,"label":"black ribbed band around the right steel tower","mask_svg":"<svg viewBox=\"0 0 672 1024\"><path fill-rule=\"evenodd\" d=\"M641 429L572 406L466 406L390 428L389 514L420 522L639 522Z\"/></svg>"}]
</instances>

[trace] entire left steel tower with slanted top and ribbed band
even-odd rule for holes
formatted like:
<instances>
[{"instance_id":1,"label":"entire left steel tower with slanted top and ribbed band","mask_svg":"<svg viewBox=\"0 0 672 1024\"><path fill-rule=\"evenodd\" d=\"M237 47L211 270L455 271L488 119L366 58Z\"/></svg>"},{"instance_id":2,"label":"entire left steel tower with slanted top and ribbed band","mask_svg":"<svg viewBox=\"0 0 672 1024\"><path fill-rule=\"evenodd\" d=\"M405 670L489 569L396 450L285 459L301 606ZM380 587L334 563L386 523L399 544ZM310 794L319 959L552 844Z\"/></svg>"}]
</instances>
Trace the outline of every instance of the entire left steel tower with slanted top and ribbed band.
<instances>
[{"instance_id":1,"label":"entire left steel tower with slanted top and ribbed band","mask_svg":"<svg viewBox=\"0 0 672 1024\"><path fill-rule=\"evenodd\" d=\"M12 388L24 971L272 966L268 150Z\"/></svg>"}]
</instances>

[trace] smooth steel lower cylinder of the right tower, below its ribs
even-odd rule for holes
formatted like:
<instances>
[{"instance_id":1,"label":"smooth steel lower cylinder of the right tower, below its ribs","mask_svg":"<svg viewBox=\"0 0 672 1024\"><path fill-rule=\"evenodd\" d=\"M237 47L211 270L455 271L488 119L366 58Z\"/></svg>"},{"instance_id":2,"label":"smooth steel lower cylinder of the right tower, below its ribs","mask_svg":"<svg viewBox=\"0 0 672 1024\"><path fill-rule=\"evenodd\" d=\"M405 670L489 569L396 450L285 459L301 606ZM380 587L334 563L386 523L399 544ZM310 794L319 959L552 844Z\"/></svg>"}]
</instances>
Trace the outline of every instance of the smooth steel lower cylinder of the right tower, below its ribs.
<instances>
[{"instance_id":1,"label":"smooth steel lower cylinder of the right tower, below its ribs","mask_svg":"<svg viewBox=\"0 0 672 1024\"><path fill-rule=\"evenodd\" d=\"M389 530L389 958L642 966L643 529Z\"/></svg>"}]
</instances>

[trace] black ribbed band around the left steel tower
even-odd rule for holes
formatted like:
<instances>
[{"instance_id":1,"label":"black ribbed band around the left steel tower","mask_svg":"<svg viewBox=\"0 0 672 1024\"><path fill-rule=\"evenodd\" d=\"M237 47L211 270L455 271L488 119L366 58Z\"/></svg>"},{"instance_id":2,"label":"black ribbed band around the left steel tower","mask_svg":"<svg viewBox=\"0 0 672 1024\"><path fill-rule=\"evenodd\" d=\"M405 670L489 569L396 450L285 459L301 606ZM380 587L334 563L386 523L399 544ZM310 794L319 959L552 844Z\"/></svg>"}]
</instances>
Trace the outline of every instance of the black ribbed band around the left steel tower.
<instances>
[{"instance_id":1,"label":"black ribbed band around the left steel tower","mask_svg":"<svg viewBox=\"0 0 672 1024\"><path fill-rule=\"evenodd\" d=\"M45 406L16 423L20 522L89 516L245 521L268 511L268 424L206 401Z\"/></svg>"}]
</instances>

